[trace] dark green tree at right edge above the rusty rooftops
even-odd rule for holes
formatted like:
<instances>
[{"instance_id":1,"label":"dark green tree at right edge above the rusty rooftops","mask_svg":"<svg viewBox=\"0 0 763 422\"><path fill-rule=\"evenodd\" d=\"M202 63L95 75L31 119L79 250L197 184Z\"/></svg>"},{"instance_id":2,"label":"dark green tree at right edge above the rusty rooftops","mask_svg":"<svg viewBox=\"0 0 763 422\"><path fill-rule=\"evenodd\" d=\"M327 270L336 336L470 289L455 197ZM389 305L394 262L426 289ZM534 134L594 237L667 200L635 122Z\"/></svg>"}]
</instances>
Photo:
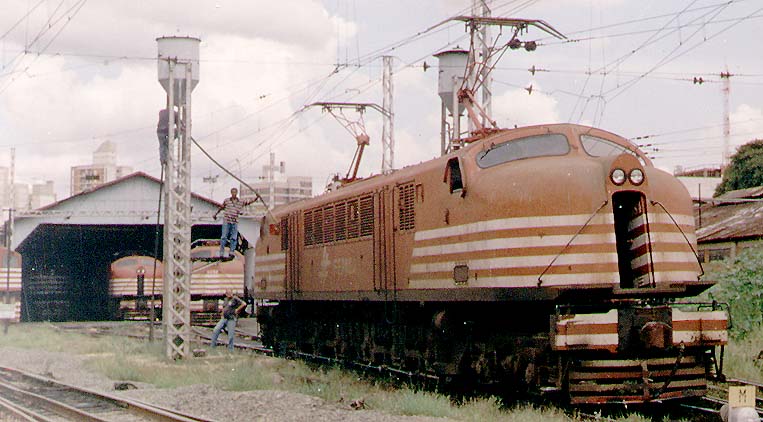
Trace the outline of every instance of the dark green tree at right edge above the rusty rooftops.
<instances>
[{"instance_id":1,"label":"dark green tree at right edge above the rusty rooftops","mask_svg":"<svg viewBox=\"0 0 763 422\"><path fill-rule=\"evenodd\" d=\"M763 186L763 139L748 142L731 156L715 196L737 189Z\"/></svg>"}]
</instances>

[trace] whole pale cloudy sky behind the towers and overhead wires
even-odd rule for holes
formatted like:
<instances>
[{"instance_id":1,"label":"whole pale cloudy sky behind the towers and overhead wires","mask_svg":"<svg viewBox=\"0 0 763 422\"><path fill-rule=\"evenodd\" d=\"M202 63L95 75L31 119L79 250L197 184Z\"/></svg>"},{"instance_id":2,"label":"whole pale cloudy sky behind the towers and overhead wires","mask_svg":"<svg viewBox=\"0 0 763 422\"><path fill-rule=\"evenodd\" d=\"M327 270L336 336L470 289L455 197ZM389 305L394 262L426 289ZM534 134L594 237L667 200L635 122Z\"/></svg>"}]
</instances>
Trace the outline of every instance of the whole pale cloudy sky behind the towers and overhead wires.
<instances>
[{"instance_id":1,"label":"whole pale cloudy sky behind the towers and overhead wires","mask_svg":"<svg viewBox=\"0 0 763 422\"><path fill-rule=\"evenodd\" d=\"M381 56L394 57L395 165L439 152L439 98L432 54L466 47L467 0L5 0L0 14L0 165L16 149L17 180L54 180L89 164L111 140L119 164L158 176L155 125L165 93L156 41L199 37L201 82L193 134L231 171L260 175L270 151L316 193L347 171L354 140L314 101L382 102ZM756 0L515 0L494 16L543 19L534 52L507 52L494 72L501 126L595 125L637 142L672 171L717 165L730 78L732 147L763 137L763 54ZM527 69L535 67L531 74ZM696 84L694 78L704 83ZM532 94L526 87L532 85ZM350 113L352 115L352 113ZM365 116L371 146L360 173L381 164L381 117ZM732 151L733 152L733 151ZM221 199L236 183L197 151L193 188Z\"/></svg>"}]
</instances>

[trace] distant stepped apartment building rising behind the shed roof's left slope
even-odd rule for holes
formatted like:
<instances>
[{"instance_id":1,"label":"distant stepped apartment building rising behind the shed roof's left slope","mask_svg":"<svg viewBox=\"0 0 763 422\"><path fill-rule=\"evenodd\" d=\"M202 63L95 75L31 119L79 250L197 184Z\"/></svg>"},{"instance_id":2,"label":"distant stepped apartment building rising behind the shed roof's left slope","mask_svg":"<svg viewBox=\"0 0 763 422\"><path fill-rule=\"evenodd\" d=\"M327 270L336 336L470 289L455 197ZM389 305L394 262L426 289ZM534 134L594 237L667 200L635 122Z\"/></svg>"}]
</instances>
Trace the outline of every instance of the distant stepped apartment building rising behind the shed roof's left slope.
<instances>
[{"instance_id":1,"label":"distant stepped apartment building rising behind the shed roof's left slope","mask_svg":"<svg viewBox=\"0 0 763 422\"><path fill-rule=\"evenodd\" d=\"M117 147L103 142L93 153L93 164L71 168L71 194L76 195L132 173L132 167L117 165Z\"/></svg>"}]
</instances>

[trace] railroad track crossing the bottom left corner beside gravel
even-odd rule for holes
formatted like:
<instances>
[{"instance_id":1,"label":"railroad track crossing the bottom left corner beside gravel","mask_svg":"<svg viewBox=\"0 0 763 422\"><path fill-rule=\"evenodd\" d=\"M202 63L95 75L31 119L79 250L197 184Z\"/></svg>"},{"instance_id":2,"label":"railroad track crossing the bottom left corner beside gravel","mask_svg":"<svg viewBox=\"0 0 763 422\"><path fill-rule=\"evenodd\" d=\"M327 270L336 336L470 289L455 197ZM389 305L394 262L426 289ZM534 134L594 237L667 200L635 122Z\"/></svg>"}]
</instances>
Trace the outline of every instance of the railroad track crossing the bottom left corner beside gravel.
<instances>
[{"instance_id":1,"label":"railroad track crossing the bottom left corner beside gravel","mask_svg":"<svg viewBox=\"0 0 763 422\"><path fill-rule=\"evenodd\" d=\"M208 421L0 367L0 415L21 421Z\"/></svg>"}]
</instances>

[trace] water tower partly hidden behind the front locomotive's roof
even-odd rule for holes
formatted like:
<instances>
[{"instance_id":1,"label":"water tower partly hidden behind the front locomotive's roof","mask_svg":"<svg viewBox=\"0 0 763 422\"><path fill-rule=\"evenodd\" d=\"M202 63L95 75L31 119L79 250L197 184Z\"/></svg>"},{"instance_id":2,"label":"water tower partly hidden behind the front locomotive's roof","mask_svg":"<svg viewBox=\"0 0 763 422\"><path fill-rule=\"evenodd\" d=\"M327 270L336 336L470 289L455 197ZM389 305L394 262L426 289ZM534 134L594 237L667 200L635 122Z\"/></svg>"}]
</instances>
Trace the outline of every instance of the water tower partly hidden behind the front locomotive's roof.
<instances>
[{"instance_id":1,"label":"water tower partly hidden behind the front locomotive's roof","mask_svg":"<svg viewBox=\"0 0 763 422\"><path fill-rule=\"evenodd\" d=\"M460 122L461 115L464 113L464 105L458 100L458 91L464 82L469 52L461 49L448 50L435 54L435 57L439 61L437 92L442 100L440 153L445 155L453 150L453 146L461 137ZM451 130L447 129L448 113L453 117Z\"/></svg>"}]
</instances>

